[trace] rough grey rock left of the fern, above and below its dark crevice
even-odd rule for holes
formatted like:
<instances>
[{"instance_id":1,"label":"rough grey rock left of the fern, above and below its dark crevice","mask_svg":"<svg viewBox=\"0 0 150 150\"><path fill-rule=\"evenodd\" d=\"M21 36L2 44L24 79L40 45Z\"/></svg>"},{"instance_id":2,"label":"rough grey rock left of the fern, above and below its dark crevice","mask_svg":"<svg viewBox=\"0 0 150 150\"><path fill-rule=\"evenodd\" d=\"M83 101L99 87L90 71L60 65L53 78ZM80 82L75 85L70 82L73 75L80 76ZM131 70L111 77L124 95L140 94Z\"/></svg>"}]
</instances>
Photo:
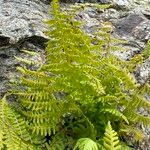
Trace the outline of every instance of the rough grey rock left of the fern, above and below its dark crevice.
<instances>
[{"instance_id":1,"label":"rough grey rock left of the fern, above and below its dark crevice","mask_svg":"<svg viewBox=\"0 0 150 150\"><path fill-rule=\"evenodd\" d=\"M43 49L47 37L42 21L49 18L46 2L0 0L0 97L19 65L14 56L21 56L21 49Z\"/></svg>"}]
</instances>

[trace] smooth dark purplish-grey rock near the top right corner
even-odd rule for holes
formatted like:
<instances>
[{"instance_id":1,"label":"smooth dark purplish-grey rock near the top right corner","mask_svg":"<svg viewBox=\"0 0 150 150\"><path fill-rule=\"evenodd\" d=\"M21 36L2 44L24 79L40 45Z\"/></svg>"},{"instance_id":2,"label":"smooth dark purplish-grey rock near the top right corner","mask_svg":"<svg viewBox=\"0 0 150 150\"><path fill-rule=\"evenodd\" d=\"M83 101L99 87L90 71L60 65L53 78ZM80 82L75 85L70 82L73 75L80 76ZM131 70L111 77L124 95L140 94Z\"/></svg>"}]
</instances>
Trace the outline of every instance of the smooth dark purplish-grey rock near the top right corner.
<instances>
[{"instance_id":1,"label":"smooth dark purplish-grey rock near the top right corner","mask_svg":"<svg viewBox=\"0 0 150 150\"><path fill-rule=\"evenodd\" d=\"M116 27L116 32L121 36L134 37L143 42L150 39L150 19L149 14L143 13L142 10L131 11L129 15L118 19L113 23Z\"/></svg>"}]
</instances>

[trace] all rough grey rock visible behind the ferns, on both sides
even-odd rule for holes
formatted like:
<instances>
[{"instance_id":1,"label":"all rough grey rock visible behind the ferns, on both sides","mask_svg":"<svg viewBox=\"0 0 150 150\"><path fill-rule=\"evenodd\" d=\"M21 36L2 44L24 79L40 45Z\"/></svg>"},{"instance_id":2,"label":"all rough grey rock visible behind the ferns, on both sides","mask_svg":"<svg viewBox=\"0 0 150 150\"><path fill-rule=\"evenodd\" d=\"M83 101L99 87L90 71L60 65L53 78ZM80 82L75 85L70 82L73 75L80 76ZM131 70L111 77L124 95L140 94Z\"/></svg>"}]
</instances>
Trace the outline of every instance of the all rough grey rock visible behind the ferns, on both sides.
<instances>
[{"instance_id":1,"label":"all rough grey rock visible behind the ferns, on both sides","mask_svg":"<svg viewBox=\"0 0 150 150\"><path fill-rule=\"evenodd\" d=\"M96 1L97 2L97 1ZM140 53L150 39L150 4L148 0L99 0L111 3L112 7L100 11L87 7L78 14L78 19L85 22L84 30L92 33L93 27L104 21L112 22L115 37L129 41L127 50L115 54L124 60ZM43 34L47 27L42 20L50 18L48 0L0 0L0 97L8 90L9 81L15 75L15 68L20 65L14 56L28 57L21 52L31 49L40 52L43 61L45 42ZM68 4L63 4L65 8ZM150 74L150 58L136 70L136 78L142 83ZM135 144L136 150L150 150L150 129L143 128L145 138Z\"/></svg>"}]
</instances>

